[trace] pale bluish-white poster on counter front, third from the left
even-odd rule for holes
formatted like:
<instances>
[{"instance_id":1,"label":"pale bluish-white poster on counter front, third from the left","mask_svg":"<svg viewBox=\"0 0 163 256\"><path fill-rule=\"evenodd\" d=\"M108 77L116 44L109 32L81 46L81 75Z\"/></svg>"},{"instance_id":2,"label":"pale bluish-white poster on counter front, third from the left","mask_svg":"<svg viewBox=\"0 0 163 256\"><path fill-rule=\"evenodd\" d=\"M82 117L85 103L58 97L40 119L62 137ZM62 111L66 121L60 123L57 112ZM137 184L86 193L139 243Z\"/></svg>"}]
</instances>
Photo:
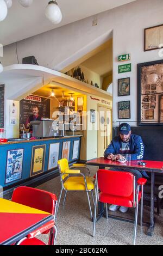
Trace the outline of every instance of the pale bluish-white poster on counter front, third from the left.
<instances>
[{"instance_id":1,"label":"pale bluish-white poster on counter front, third from the left","mask_svg":"<svg viewBox=\"0 0 163 256\"><path fill-rule=\"evenodd\" d=\"M48 170L54 169L58 166L59 145L60 143L53 143L49 145Z\"/></svg>"}]
</instances>

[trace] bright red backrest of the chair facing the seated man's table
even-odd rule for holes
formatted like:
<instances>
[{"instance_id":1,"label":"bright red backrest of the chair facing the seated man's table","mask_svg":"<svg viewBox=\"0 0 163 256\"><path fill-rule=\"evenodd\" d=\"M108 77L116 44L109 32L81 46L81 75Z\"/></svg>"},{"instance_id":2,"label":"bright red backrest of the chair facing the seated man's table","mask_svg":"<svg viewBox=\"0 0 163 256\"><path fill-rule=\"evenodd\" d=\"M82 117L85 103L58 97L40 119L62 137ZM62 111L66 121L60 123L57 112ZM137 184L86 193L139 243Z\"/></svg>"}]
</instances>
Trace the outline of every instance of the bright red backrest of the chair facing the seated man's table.
<instances>
[{"instance_id":1,"label":"bright red backrest of the chair facing the seated man's table","mask_svg":"<svg viewBox=\"0 0 163 256\"><path fill-rule=\"evenodd\" d=\"M129 172L99 169L97 179L99 190L106 194L129 197L134 191L134 175Z\"/></svg>"}]
</instances>

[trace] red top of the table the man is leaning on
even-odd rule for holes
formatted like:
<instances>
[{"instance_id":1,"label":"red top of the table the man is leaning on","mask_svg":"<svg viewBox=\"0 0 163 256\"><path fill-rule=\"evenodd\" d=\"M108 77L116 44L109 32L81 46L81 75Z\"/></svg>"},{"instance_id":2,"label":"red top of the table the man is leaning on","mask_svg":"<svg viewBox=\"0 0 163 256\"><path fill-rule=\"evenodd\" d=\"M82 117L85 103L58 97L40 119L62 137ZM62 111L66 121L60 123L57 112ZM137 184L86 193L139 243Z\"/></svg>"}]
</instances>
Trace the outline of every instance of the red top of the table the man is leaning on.
<instances>
[{"instance_id":1,"label":"red top of the table the man is leaning on","mask_svg":"<svg viewBox=\"0 0 163 256\"><path fill-rule=\"evenodd\" d=\"M87 165L101 166L101 167L116 167L116 168L127 168L127 169L139 169L146 170L147 172L163 172L163 161L146 161L141 160L141 162L146 162L145 166L140 166L137 164L139 160L120 163L117 161L111 161L104 157L98 157L86 162Z\"/></svg>"}]
</instances>

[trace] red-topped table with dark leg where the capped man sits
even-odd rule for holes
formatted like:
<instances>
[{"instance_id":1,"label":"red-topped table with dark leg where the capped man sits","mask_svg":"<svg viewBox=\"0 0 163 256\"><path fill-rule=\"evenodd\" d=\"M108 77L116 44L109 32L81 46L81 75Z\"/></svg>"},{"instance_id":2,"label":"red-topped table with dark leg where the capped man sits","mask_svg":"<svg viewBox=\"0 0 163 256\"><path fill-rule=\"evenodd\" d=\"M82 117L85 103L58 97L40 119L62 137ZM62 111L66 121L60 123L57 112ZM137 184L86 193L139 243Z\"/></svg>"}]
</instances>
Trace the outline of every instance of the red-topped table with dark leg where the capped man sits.
<instances>
[{"instance_id":1,"label":"red-topped table with dark leg where the capped man sits","mask_svg":"<svg viewBox=\"0 0 163 256\"><path fill-rule=\"evenodd\" d=\"M99 169L104 169L105 167L115 167L120 169L135 169L135 170L145 170L146 172L151 172L151 211L150 211L150 224L148 229L148 236L153 235L154 231L154 184L155 184L155 173L163 173L163 161L144 161L146 166L139 166L137 161L131 161L126 163L114 162L104 157L98 157L86 162L87 165L99 166Z\"/></svg>"}]
</instances>

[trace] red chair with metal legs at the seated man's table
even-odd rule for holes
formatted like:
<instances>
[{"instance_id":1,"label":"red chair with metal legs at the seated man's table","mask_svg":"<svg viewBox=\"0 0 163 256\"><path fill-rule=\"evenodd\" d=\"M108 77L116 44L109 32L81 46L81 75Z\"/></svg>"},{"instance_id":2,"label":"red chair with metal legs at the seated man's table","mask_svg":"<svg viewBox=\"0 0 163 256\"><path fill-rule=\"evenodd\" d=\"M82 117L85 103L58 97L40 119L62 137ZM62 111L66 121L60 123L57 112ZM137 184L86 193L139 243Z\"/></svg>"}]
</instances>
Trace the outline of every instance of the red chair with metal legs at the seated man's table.
<instances>
[{"instance_id":1,"label":"red chair with metal legs at the seated man's table","mask_svg":"<svg viewBox=\"0 0 163 256\"><path fill-rule=\"evenodd\" d=\"M147 182L141 178L137 180L137 188L135 190L135 176L129 172L116 172L113 170L99 169L96 173L96 202L93 216L93 237L95 236L96 227L96 209L97 198L99 202L105 204L106 218L108 218L107 204L115 204L126 207L135 208L135 224L134 224L134 239L136 241L137 214L138 206L141 199L141 227L143 213L143 185ZM141 186L141 191L140 191ZM100 191L98 194L98 190Z\"/></svg>"}]
</instances>

